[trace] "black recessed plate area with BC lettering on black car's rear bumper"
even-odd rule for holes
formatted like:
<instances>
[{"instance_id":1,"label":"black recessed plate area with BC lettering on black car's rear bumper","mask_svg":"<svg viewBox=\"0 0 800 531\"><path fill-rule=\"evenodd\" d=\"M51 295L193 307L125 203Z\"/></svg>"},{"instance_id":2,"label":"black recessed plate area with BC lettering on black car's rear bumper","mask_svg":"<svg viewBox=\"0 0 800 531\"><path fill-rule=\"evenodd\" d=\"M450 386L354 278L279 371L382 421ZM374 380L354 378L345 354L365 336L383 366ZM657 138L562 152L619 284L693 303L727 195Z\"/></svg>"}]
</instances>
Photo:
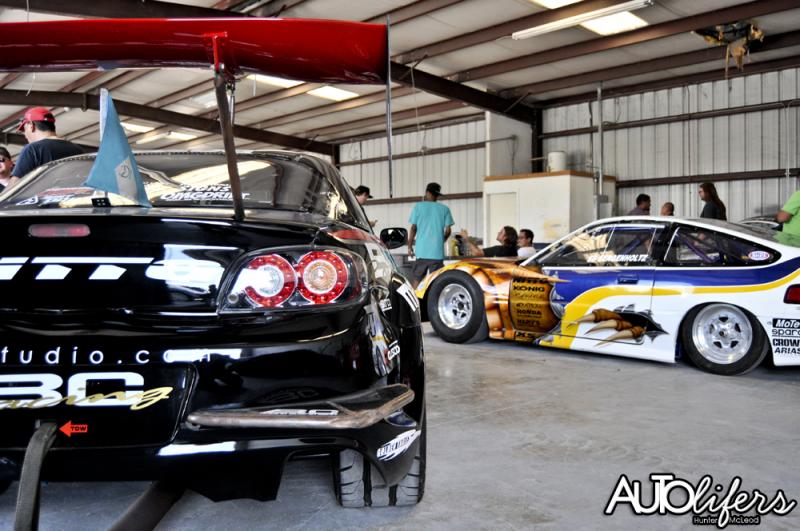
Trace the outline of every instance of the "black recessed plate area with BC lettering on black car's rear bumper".
<instances>
[{"instance_id":1,"label":"black recessed plate area with BC lettering on black car's rear bumper","mask_svg":"<svg viewBox=\"0 0 800 531\"><path fill-rule=\"evenodd\" d=\"M0 448L24 448L42 422L59 427L55 447L166 444L194 378L191 365L4 367Z\"/></svg>"}]
</instances>

